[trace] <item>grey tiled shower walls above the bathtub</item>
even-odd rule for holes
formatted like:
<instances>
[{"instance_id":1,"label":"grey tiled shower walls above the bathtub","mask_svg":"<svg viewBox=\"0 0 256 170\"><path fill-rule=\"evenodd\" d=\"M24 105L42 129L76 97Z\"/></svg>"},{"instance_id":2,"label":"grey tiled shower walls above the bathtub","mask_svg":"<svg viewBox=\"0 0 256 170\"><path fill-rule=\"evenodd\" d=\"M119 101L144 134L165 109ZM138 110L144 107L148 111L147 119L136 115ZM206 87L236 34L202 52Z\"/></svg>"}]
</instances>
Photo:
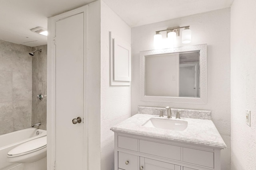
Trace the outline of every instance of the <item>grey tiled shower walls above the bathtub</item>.
<instances>
[{"instance_id":1,"label":"grey tiled shower walls above the bathtub","mask_svg":"<svg viewBox=\"0 0 256 170\"><path fill-rule=\"evenodd\" d=\"M32 50L42 49L30 56ZM28 47L0 40L0 135L41 122L46 129L47 45ZM42 101L36 96L44 95Z\"/></svg>"}]
</instances>

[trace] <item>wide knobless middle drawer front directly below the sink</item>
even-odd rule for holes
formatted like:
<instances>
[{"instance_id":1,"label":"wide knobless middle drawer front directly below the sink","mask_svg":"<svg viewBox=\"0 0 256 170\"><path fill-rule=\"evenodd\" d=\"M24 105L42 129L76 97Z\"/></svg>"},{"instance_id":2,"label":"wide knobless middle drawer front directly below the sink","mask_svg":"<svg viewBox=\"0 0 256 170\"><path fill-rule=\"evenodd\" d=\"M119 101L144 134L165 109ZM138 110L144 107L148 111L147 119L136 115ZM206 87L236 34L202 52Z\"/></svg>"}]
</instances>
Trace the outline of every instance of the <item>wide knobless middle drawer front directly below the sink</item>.
<instances>
[{"instance_id":1,"label":"wide knobless middle drawer front directly below the sink","mask_svg":"<svg viewBox=\"0 0 256 170\"><path fill-rule=\"evenodd\" d=\"M180 147L174 145L140 140L140 152L180 160Z\"/></svg>"}]
</instances>

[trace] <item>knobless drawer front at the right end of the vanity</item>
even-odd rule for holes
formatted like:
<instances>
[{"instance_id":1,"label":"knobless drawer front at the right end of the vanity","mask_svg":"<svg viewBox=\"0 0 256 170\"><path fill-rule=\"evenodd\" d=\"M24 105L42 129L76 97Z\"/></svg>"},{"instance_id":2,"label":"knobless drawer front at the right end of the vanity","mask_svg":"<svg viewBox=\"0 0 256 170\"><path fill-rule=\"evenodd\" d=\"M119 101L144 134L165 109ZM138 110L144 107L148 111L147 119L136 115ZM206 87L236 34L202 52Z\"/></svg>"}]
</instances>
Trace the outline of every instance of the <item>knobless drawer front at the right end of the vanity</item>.
<instances>
[{"instance_id":1,"label":"knobless drawer front at the right end of the vanity","mask_svg":"<svg viewBox=\"0 0 256 170\"><path fill-rule=\"evenodd\" d=\"M183 161L214 168L214 152L183 148Z\"/></svg>"}]
</instances>

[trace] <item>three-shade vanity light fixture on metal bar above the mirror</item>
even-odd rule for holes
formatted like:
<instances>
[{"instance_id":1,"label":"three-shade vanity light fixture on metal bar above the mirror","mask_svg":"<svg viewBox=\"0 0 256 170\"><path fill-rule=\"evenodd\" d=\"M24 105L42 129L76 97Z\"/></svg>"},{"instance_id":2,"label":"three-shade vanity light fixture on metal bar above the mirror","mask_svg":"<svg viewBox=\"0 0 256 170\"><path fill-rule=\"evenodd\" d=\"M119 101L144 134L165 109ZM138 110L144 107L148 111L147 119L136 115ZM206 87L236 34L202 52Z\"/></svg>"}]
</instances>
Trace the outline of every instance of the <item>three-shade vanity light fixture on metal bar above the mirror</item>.
<instances>
[{"instance_id":1,"label":"three-shade vanity light fixture on metal bar above the mirror","mask_svg":"<svg viewBox=\"0 0 256 170\"><path fill-rule=\"evenodd\" d=\"M162 35L160 32L162 31L167 31L167 38L168 38L168 43L171 45L174 45L176 43L176 36L180 36L180 29L184 28L182 31L182 43L187 44L191 42L191 30L189 29L188 26L184 27L170 27L164 30L156 31L156 34L154 35L154 47L158 48L161 47L162 45Z\"/></svg>"}]
</instances>

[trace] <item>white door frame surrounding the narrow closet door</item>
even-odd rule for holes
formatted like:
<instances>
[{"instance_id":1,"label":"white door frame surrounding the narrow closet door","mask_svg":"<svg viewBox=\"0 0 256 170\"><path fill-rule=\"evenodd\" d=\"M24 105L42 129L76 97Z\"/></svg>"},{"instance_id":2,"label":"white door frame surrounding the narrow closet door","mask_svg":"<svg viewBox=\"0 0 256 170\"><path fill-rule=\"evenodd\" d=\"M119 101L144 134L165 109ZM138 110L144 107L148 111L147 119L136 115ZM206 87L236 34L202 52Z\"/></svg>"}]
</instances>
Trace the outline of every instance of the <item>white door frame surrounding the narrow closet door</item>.
<instances>
[{"instance_id":1,"label":"white door frame surrounding the narrow closet door","mask_svg":"<svg viewBox=\"0 0 256 170\"><path fill-rule=\"evenodd\" d=\"M58 40L55 38L56 21L84 13L84 66L87 65L87 14L88 5L64 12L57 16L48 18L48 40L47 40L47 170L55 170L56 164L56 46ZM84 170L88 169L88 123L87 123L87 84L86 68L84 68ZM71 121L71 120L70 120Z\"/></svg>"}]
</instances>

